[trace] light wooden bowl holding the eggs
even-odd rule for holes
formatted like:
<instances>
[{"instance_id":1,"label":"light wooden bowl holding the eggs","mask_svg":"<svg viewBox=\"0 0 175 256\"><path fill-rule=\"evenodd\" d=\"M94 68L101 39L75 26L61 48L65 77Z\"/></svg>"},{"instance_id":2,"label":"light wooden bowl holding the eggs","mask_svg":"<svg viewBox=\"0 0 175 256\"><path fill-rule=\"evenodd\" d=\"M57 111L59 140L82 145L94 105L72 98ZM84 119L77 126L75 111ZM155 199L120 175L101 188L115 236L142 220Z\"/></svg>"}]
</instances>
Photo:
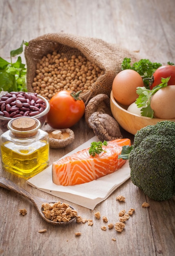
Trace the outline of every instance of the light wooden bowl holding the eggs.
<instances>
[{"instance_id":1,"label":"light wooden bowl holding the eggs","mask_svg":"<svg viewBox=\"0 0 175 256\"><path fill-rule=\"evenodd\" d=\"M110 94L110 108L114 119L119 123L119 125L126 130L127 132L136 134L138 130L147 126L147 125L155 125L157 122L169 120L174 121L173 119L160 119L160 118L149 118L149 117L141 117L136 114L132 114L127 111L128 106L122 106L114 99L113 93L111 91Z\"/></svg>"}]
</instances>

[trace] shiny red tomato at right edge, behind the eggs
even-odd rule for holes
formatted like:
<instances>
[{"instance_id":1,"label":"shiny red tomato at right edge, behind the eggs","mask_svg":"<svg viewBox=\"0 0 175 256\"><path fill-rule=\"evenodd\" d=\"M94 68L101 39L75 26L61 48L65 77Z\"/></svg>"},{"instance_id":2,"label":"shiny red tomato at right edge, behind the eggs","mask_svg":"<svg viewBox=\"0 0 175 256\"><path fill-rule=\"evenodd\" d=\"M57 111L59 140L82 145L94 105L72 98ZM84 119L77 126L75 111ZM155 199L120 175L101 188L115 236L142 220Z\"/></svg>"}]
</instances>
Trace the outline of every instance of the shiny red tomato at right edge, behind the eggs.
<instances>
[{"instance_id":1,"label":"shiny red tomato at right edge, behind the eggs","mask_svg":"<svg viewBox=\"0 0 175 256\"><path fill-rule=\"evenodd\" d=\"M168 85L175 85L175 66L165 65L158 67L158 69L154 72L154 81L152 85L150 85L150 90L153 89L156 85L159 85L161 82L161 78L167 78L171 76L168 81Z\"/></svg>"}]
</instances>

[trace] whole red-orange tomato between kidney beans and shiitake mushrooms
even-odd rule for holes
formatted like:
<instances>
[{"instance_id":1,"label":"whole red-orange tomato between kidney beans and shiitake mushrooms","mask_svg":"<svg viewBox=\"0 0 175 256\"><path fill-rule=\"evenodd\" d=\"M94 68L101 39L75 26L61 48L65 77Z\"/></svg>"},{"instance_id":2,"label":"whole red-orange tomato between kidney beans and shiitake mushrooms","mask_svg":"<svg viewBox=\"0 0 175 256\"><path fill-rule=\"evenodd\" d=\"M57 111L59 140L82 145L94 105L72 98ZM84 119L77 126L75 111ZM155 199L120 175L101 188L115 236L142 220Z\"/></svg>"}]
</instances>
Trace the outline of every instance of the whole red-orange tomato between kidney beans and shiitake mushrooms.
<instances>
[{"instance_id":1,"label":"whole red-orange tomato between kidney beans and shiitake mushrooms","mask_svg":"<svg viewBox=\"0 0 175 256\"><path fill-rule=\"evenodd\" d=\"M49 126L55 129L70 128L83 117L85 103L79 98L79 93L63 90L50 99L47 114Z\"/></svg>"}]
</instances>

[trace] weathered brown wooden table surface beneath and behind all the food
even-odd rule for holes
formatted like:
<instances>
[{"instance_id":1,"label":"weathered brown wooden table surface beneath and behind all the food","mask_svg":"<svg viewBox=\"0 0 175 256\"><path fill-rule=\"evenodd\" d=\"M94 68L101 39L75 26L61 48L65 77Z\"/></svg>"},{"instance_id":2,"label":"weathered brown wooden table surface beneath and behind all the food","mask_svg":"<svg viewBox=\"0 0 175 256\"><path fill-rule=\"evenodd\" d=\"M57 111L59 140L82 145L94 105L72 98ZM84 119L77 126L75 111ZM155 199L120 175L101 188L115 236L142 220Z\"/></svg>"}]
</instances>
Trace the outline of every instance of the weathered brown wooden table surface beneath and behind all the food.
<instances>
[{"instance_id":1,"label":"weathered brown wooden table surface beneath and behind all the food","mask_svg":"<svg viewBox=\"0 0 175 256\"><path fill-rule=\"evenodd\" d=\"M151 61L175 63L174 11L174 0L1 0L0 56L10 61L10 50L18 48L22 40L63 31L119 44ZM24 56L22 58L24 60ZM50 164L94 136L84 118L72 130L74 142L64 149L51 149ZM125 131L123 136L133 139ZM2 168L0 176L34 195L56 201L61 199L33 188L23 178ZM118 195L126 197L126 202L116 201ZM143 202L148 202L150 207L141 207ZM76 222L65 227L50 225L29 200L0 188L0 255L174 255L175 197L165 202L150 200L128 180L94 211L68 203L79 215L92 219L94 225ZM23 208L27 209L25 216L18 212ZM101 230L104 222L94 218L94 213L100 211L101 216L116 223L119 211L130 208L135 208L135 213L122 233L114 229ZM47 232L38 233L40 229L47 229ZM81 232L81 236L75 236L75 232Z\"/></svg>"}]
</instances>

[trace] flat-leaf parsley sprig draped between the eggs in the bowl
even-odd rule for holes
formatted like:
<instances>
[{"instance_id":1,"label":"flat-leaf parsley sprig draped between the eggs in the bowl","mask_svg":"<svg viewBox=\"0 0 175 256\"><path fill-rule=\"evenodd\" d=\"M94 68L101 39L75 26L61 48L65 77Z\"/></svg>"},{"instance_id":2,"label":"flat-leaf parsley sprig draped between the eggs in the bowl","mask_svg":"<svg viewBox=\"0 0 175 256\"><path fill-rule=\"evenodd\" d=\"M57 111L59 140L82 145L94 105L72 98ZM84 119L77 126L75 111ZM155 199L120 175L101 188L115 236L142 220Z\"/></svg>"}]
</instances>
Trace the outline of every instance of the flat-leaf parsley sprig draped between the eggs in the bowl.
<instances>
[{"instance_id":1,"label":"flat-leaf parsley sprig draped between the eggs in the bowl","mask_svg":"<svg viewBox=\"0 0 175 256\"><path fill-rule=\"evenodd\" d=\"M144 117L153 118L154 111L150 107L151 97L161 88L166 87L168 85L168 81L170 77L162 78L159 85L153 87L152 90L146 89L146 87L137 87L137 94L139 97L136 99L135 103L138 108L141 108L141 115Z\"/></svg>"}]
</instances>

